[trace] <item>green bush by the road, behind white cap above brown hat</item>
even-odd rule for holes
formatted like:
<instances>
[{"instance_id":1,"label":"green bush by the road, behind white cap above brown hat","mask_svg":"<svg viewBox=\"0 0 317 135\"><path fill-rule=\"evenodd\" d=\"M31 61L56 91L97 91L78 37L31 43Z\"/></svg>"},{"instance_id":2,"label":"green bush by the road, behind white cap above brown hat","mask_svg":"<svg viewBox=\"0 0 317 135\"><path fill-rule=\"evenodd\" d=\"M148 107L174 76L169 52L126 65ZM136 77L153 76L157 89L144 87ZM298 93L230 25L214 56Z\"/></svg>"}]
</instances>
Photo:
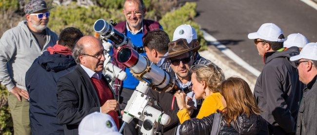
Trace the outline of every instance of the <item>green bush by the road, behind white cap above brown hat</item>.
<instances>
[{"instance_id":1,"label":"green bush by the road, behind white cap above brown hat","mask_svg":"<svg viewBox=\"0 0 317 135\"><path fill-rule=\"evenodd\" d=\"M187 2L182 7L175 11L166 13L159 23L163 26L164 31L169 35L170 39L173 39L175 29L181 24L189 24L196 29L198 34L198 41L201 45L200 51L207 49L207 43L203 38L202 32L199 30L199 25L194 22L196 16L196 6L194 2Z\"/></svg>"}]
</instances>

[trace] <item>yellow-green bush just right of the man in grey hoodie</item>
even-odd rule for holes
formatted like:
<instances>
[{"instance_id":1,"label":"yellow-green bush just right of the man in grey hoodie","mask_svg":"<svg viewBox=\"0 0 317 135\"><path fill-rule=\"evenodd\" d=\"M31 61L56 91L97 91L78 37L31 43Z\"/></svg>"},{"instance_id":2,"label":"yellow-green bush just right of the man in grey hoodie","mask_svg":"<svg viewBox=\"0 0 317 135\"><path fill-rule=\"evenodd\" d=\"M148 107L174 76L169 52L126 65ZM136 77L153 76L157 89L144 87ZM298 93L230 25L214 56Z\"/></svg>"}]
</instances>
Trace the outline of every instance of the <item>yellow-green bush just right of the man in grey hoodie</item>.
<instances>
[{"instance_id":1,"label":"yellow-green bush just right of the man in grey hoodie","mask_svg":"<svg viewBox=\"0 0 317 135\"><path fill-rule=\"evenodd\" d=\"M66 27L77 27L84 34L93 34L94 22L99 18L105 20L123 20L123 16L119 16L118 10L91 6L88 8L80 7L76 4L68 6L57 6L52 9L49 22L49 28L59 33ZM117 15L117 16L114 16Z\"/></svg>"}]
</instances>

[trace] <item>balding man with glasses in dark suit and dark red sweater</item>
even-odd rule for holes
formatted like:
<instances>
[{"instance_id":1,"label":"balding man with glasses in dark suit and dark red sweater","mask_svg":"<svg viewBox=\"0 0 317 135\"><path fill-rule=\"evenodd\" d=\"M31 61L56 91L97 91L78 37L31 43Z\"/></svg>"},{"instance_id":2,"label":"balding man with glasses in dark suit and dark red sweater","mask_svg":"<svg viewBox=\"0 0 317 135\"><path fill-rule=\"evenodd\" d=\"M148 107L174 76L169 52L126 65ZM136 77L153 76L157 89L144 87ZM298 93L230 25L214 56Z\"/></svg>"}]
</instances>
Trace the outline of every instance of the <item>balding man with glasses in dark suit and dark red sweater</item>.
<instances>
[{"instance_id":1,"label":"balding man with glasses in dark suit and dark red sweater","mask_svg":"<svg viewBox=\"0 0 317 135\"><path fill-rule=\"evenodd\" d=\"M103 54L97 38L80 38L73 50L77 66L57 83L57 118L60 124L65 124L65 135L78 135L81 119L93 112L109 114L119 127L118 102L102 75Z\"/></svg>"}]
</instances>

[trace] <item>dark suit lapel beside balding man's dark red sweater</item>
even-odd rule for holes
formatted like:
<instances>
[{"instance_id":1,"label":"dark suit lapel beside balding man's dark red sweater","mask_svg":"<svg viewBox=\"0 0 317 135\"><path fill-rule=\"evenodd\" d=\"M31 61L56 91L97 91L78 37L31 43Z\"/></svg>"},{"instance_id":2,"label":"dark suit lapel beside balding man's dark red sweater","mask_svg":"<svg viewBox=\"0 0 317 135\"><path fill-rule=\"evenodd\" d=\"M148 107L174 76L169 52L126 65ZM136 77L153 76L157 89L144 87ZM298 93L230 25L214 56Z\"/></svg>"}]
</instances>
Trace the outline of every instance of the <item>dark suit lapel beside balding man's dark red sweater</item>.
<instances>
[{"instance_id":1,"label":"dark suit lapel beside balding man's dark red sweater","mask_svg":"<svg viewBox=\"0 0 317 135\"><path fill-rule=\"evenodd\" d=\"M79 64L76 66L76 69L79 71L80 79L81 79L82 83L86 86L86 90L88 91L88 93L93 97L95 104L97 106L100 106L100 102L99 102L99 98L98 98L96 89L95 89L93 83L91 82L88 74L85 72L85 70L82 67L80 67Z\"/></svg>"}]
</instances>

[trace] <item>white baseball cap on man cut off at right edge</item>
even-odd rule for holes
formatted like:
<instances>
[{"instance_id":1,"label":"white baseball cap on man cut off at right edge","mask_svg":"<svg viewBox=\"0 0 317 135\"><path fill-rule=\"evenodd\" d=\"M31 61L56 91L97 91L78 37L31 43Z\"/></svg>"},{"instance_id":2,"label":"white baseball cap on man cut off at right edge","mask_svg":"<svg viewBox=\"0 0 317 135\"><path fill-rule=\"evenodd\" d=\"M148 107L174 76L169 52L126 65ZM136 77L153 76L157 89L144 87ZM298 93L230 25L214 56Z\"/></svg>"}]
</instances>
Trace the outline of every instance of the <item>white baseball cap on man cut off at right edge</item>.
<instances>
[{"instance_id":1,"label":"white baseball cap on man cut off at right edge","mask_svg":"<svg viewBox=\"0 0 317 135\"><path fill-rule=\"evenodd\" d=\"M306 44L299 55L290 58L291 61L297 61L299 59L317 60L317 42Z\"/></svg>"}]
</instances>

